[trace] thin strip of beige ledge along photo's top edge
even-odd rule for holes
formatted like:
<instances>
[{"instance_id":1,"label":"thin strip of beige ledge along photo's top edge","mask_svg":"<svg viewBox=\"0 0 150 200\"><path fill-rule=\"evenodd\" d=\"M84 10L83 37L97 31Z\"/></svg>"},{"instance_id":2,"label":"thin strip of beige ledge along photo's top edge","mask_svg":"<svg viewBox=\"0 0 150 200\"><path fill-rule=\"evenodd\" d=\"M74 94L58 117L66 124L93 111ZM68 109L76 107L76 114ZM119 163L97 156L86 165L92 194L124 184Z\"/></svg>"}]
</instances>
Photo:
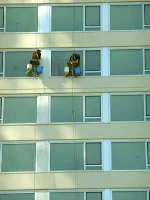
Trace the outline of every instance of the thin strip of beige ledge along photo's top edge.
<instances>
[{"instance_id":1,"label":"thin strip of beige ledge along photo's top edge","mask_svg":"<svg viewBox=\"0 0 150 200\"><path fill-rule=\"evenodd\" d=\"M144 2L148 2L145 0ZM113 2L141 2L140 0L5 0L0 5L6 4L73 4L73 3L113 3Z\"/></svg>"}]
</instances>

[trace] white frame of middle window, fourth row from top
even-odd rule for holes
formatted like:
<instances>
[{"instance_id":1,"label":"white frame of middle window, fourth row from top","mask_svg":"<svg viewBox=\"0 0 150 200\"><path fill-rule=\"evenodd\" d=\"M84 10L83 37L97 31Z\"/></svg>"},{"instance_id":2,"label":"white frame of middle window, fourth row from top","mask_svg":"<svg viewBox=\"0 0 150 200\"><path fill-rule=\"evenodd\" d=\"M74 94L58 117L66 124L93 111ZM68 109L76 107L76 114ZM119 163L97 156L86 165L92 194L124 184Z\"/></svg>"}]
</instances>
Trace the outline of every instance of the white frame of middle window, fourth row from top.
<instances>
[{"instance_id":1,"label":"white frame of middle window, fourth row from top","mask_svg":"<svg viewBox=\"0 0 150 200\"><path fill-rule=\"evenodd\" d=\"M51 144L75 144L75 143L80 143L80 144L83 144L83 163L84 163L84 169L83 170L56 170L56 171L51 171L51 161L50 161L50 155L51 155ZM101 167L102 169L101 170L87 170L86 167L89 167L88 165L86 165L86 143L100 143L101 144L101 165L91 165L91 167ZM89 140L89 141L86 141L86 140L78 140L78 141L74 141L74 140L54 140L54 141L49 141L49 155L48 155L48 162L49 162L49 165L48 165L48 172L73 172L73 171L79 171L79 172L82 172L82 171L103 171L104 170L104 155L103 155L103 141L102 140Z\"/></svg>"}]
</instances>

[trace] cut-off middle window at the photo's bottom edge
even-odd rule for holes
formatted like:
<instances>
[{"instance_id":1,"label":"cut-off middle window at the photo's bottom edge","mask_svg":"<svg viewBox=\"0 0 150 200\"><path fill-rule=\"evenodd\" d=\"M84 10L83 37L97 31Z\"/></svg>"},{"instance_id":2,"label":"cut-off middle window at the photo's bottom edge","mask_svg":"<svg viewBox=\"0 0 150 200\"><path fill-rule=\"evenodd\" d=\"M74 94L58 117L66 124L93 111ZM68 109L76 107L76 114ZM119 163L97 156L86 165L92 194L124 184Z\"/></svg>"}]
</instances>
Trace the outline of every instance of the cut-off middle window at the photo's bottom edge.
<instances>
[{"instance_id":1,"label":"cut-off middle window at the photo's bottom edge","mask_svg":"<svg viewBox=\"0 0 150 200\"><path fill-rule=\"evenodd\" d=\"M50 199L51 200L102 200L102 192L50 192Z\"/></svg>"}]
</instances>

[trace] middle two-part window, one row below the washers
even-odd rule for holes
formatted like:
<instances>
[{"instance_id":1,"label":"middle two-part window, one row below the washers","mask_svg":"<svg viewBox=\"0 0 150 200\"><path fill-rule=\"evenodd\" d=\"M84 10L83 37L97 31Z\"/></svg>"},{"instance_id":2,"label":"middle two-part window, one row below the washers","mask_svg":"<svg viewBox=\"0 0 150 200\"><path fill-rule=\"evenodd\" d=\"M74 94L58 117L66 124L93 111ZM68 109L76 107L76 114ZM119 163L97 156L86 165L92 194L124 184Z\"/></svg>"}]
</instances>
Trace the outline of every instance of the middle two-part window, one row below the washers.
<instances>
[{"instance_id":1,"label":"middle two-part window, one row below the washers","mask_svg":"<svg viewBox=\"0 0 150 200\"><path fill-rule=\"evenodd\" d=\"M63 105L63 106L62 106ZM85 107L85 109L84 109ZM51 122L100 122L100 96L52 96Z\"/></svg>"}]
</instances>

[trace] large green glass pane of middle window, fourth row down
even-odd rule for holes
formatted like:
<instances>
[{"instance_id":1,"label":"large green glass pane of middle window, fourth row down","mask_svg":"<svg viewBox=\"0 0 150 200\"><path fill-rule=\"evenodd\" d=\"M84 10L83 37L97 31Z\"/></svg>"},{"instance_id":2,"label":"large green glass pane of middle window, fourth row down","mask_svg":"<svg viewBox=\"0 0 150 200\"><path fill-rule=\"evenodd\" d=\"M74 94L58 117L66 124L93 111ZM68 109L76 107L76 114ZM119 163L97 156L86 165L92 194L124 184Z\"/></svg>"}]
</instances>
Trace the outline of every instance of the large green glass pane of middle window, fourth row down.
<instances>
[{"instance_id":1,"label":"large green glass pane of middle window, fourth row down","mask_svg":"<svg viewBox=\"0 0 150 200\"><path fill-rule=\"evenodd\" d=\"M51 171L83 170L83 144L51 144L50 169Z\"/></svg>"}]
</instances>

